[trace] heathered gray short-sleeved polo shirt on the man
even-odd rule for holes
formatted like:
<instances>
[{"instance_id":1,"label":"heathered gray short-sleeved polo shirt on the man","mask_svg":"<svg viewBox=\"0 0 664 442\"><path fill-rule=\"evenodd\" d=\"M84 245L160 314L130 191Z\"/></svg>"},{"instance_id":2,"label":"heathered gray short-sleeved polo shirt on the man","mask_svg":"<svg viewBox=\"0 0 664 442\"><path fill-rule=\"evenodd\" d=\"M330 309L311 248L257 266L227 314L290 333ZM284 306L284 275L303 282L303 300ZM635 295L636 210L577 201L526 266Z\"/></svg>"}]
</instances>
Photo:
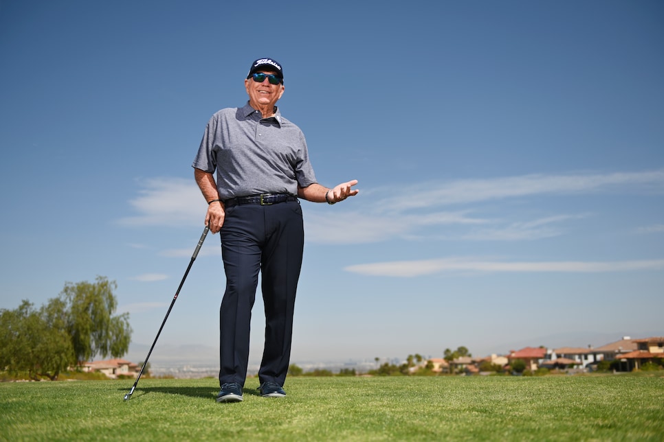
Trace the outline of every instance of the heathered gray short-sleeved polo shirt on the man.
<instances>
[{"instance_id":1,"label":"heathered gray short-sleeved polo shirt on the man","mask_svg":"<svg viewBox=\"0 0 664 442\"><path fill-rule=\"evenodd\" d=\"M192 167L214 174L222 200L257 194L297 196L316 183L302 130L281 116L261 116L247 104L212 115Z\"/></svg>"}]
</instances>

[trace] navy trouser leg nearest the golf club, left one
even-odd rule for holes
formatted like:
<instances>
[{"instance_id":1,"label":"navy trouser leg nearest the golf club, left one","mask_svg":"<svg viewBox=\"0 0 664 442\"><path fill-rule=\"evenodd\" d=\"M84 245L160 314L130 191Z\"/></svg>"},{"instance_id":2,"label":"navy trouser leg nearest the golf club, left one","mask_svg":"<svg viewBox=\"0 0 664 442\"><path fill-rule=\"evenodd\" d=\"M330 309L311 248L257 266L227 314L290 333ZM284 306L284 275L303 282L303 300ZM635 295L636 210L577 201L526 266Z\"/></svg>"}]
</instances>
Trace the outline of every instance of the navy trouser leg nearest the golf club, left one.
<instances>
[{"instance_id":1,"label":"navy trouser leg nearest the golf club, left one","mask_svg":"<svg viewBox=\"0 0 664 442\"><path fill-rule=\"evenodd\" d=\"M249 364L252 307L261 266L261 234L255 207L231 207L221 229L226 288L219 310L219 384L244 385Z\"/></svg>"}]
</instances>

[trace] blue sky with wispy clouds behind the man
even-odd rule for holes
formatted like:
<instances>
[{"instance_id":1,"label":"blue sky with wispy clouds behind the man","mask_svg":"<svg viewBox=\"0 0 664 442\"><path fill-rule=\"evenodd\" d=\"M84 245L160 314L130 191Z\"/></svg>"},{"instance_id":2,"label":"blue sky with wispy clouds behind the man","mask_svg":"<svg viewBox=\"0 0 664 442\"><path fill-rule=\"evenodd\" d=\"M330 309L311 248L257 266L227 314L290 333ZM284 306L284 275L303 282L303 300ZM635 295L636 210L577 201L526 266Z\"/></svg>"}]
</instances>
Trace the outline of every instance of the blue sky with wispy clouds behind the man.
<instances>
[{"instance_id":1,"label":"blue sky with wispy clouds behind the man","mask_svg":"<svg viewBox=\"0 0 664 442\"><path fill-rule=\"evenodd\" d=\"M294 362L664 334L663 3L229 3L1 1L0 308L106 276L142 360L203 129L269 56L318 181L360 189L302 203ZM217 358L223 284L208 235L153 357Z\"/></svg>"}]
</instances>

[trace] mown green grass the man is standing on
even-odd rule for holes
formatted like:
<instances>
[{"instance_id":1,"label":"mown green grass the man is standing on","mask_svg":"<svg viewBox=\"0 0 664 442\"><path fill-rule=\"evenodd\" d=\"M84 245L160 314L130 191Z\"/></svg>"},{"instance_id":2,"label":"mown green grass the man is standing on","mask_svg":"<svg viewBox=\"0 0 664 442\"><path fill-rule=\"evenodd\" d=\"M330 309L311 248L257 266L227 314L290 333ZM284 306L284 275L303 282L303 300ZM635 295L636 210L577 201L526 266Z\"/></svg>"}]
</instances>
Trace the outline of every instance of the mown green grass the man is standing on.
<instances>
[{"instance_id":1,"label":"mown green grass the man is standing on","mask_svg":"<svg viewBox=\"0 0 664 442\"><path fill-rule=\"evenodd\" d=\"M290 377L217 404L214 379L4 382L0 440L664 440L664 377Z\"/></svg>"}]
</instances>

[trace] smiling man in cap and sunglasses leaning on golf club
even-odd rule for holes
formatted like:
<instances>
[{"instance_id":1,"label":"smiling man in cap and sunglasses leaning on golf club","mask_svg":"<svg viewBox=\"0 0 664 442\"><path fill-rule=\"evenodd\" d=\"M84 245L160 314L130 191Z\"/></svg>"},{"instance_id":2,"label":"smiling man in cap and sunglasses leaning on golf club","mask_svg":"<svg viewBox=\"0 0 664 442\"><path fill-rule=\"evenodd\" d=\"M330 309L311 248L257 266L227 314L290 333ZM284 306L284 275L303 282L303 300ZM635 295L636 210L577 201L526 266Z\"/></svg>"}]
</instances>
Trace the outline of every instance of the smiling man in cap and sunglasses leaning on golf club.
<instances>
[{"instance_id":1,"label":"smiling man in cap and sunglasses leaning on golf club","mask_svg":"<svg viewBox=\"0 0 664 442\"><path fill-rule=\"evenodd\" d=\"M208 202L205 222L221 232L226 288L221 301L217 402L241 402L258 272L265 303L265 349L258 371L263 397L283 397L294 303L304 248L298 198L334 204L357 195L356 180L316 183L298 126L275 106L284 93L280 63L259 58L245 79L249 101L215 113L192 166ZM214 172L217 172L217 180Z\"/></svg>"}]
</instances>

